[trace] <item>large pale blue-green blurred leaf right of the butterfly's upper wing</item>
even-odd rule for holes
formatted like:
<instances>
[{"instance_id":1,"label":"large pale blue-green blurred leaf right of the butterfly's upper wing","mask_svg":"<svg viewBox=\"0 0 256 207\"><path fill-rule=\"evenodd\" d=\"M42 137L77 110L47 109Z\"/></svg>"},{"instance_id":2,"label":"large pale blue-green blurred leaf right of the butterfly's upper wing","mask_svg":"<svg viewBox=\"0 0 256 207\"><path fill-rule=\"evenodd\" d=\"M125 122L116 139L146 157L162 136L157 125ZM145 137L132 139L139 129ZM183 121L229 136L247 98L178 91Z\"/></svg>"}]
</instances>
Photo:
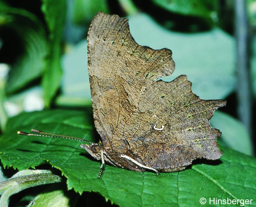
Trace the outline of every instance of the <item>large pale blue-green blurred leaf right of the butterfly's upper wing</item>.
<instances>
[{"instance_id":1,"label":"large pale blue-green blurred leaf right of the butterfly's upper wing","mask_svg":"<svg viewBox=\"0 0 256 207\"><path fill-rule=\"evenodd\" d=\"M164 81L187 75L192 91L202 99L223 99L235 90L235 41L220 29L184 34L166 30L145 14L129 17L139 45L172 50L176 69Z\"/></svg>"}]
</instances>

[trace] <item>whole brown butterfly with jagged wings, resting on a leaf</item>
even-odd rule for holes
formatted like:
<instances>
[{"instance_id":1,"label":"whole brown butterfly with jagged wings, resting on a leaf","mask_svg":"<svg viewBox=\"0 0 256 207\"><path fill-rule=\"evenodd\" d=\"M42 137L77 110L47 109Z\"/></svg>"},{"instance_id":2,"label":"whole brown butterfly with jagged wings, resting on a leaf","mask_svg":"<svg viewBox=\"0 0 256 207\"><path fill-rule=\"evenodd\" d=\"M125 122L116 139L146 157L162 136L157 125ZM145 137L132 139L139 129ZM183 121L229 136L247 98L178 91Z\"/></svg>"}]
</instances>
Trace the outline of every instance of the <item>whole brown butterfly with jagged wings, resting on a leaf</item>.
<instances>
[{"instance_id":1,"label":"whole brown butterfly with jagged wings, resting on a leaf","mask_svg":"<svg viewBox=\"0 0 256 207\"><path fill-rule=\"evenodd\" d=\"M101 141L80 147L101 160L98 177L105 162L158 174L184 170L197 158L221 157L216 141L221 132L209 120L226 101L200 99L185 75L171 82L158 80L174 72L171 50L138 45L128 19L103 12L91 22L87 49L94 122Z\"/></svg>"}]
</instances>

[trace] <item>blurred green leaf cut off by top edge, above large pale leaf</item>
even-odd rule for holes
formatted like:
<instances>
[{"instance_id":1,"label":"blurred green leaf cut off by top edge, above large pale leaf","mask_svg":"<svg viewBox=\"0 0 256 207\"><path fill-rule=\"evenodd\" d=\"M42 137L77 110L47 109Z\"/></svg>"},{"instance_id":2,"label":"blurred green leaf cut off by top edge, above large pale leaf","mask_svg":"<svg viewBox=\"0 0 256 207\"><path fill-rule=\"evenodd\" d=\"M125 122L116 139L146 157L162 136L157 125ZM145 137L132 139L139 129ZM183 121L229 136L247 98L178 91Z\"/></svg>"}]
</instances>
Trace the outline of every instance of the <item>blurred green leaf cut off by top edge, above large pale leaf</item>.
<instances>
[{"instance_id":1,"label":"blurred green leaf cut off by top edge, above large pale leaf","mask_svg":"<svg viewBox=\"0 0 256 207\"><path fill-rule=\"evenodd\" d=\"M216 16L217 2L211 0L152 0L168 11L190 16Z\"/></svg>"}]
</instances>

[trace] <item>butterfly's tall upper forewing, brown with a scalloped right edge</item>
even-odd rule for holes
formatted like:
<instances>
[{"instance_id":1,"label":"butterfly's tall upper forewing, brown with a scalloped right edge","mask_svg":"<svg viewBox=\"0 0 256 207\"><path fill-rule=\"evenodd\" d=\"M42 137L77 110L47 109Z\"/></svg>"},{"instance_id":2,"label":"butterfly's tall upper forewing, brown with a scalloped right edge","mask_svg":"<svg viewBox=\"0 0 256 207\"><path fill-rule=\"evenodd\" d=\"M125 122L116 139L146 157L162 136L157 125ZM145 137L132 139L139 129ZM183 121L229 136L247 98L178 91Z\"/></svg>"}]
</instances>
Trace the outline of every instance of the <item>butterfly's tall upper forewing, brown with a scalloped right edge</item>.
<instances>
[{"instance_id":1,"label":"butterfly's tall upper forewing, brown with a scalloped right edge","mask_svg":"<svg viewBox=\"0 0 256 207\"><path fill-rule=\"evenodd\" d=\"M143 91L174 71L172 52L139 46L128 19L102 12L92 21L87 41L95 126L100 135L112 137ZM129 109L120 114L122 108Z\"/></svg>"}]
</instances>

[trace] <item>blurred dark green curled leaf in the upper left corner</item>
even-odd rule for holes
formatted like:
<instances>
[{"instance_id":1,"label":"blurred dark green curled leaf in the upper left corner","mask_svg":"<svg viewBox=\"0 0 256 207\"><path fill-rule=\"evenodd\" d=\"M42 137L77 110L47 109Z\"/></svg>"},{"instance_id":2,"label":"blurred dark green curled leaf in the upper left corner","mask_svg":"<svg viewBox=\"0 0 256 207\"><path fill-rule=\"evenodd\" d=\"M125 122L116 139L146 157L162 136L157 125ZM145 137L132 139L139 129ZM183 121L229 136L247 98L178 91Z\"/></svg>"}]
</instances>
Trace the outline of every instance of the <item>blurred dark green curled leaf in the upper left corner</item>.
<instances>
[{"instance_id":1,"label":"blurred dark green curled leaf in the upper left corner","mask_svg":"<svg viewBox=\"0 0 256 207\"><path fill-rule=\"evenodd\" d=\"M10 42L6 42L6 45L13 47L15 51L12 54L20 51L11 66L6 84L6 92L13 93L41 75L48 49L46 34L42 22L22 9L4 7L0 11L0 19L1 34L6 32L9 36L10 33L16 36L8 40Z\"/></svg>"}]
</instances>

